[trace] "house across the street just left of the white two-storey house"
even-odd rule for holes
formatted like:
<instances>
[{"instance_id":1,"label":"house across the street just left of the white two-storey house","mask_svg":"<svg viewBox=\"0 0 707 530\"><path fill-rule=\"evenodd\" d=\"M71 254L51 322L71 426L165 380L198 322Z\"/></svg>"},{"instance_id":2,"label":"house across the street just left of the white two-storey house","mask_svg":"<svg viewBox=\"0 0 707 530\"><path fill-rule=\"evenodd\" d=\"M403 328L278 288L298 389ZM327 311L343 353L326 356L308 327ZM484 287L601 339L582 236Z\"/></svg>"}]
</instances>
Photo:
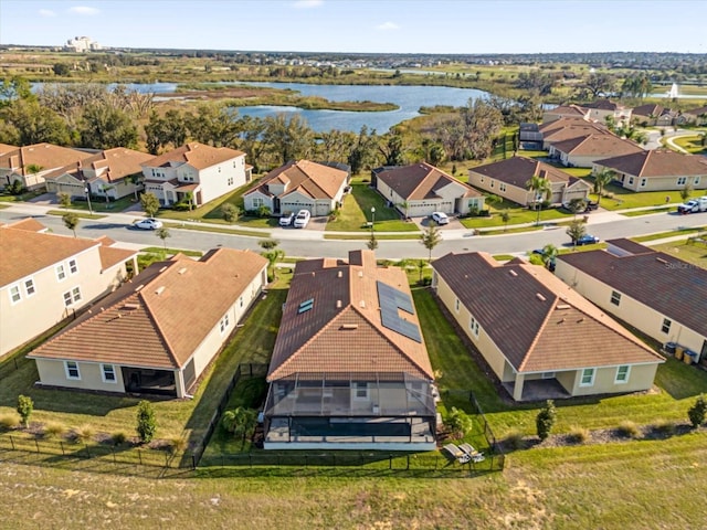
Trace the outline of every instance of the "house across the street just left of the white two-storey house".
<instances>
[{"instance_id":1,"label":"house across the street just left of the white two-storey house","mask_svg":"<svg viewBox=\"0 0 707 530\"><path fill-rule=\"evenodd\" d=\"M76 163L51 171L44 176L46 191L68 193L72 198L91 197L118 200L143 189L141 163L155 157L117 147L106 149ZM133 181L134 177L139 180Z\"/></svg>"}]
</instances>

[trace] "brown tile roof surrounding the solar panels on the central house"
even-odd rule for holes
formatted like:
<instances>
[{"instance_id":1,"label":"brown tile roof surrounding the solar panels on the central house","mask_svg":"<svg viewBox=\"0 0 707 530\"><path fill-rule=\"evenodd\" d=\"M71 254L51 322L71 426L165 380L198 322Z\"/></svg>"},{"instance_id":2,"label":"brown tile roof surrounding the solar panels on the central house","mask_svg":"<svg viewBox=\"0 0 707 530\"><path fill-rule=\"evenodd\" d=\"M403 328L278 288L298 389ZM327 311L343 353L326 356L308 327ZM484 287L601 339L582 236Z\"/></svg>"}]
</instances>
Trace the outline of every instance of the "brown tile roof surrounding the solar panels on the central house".
<instances>
[{"instance_id":1,"label":"brown tile roof surrounding the solar panels on the central house","mask_svg":"<svg viewBox=\"0 0 707 530\"><path fill-rule=\"evenodd\" d=\"M379 282L412 300L402 269L377 267L370 251L351 253L349 263L299 262L275 341L268 381L321 372L405 372L434 379L424 341L418 342L382 325ZM303 311L307 300L313 300L312 308ZM400 316L419 328L416 314L402 311Z\"/></svg>"}]
</instances>

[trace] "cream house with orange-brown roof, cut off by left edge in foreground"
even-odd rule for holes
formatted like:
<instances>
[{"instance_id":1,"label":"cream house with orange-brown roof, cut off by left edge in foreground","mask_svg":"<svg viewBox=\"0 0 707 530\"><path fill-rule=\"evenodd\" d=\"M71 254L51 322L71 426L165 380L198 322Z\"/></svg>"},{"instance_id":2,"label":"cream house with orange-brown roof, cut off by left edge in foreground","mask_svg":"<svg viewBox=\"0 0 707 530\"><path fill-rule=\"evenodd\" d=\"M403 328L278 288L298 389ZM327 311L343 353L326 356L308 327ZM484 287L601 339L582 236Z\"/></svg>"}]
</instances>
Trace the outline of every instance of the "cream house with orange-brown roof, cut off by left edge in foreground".
<instances>
[{"instance_id":1,"label":"cream house with orange-brown roof, cut off by left edge in foreground","mask_svg":"<svg viewBox=\"0 0 707 530\"><path fill-rule=\"evenodd\" d=\"M33 219L0 225L0 356L72 317L137 269L107 237L50 234Z\"/></svg>"}]
</instances>

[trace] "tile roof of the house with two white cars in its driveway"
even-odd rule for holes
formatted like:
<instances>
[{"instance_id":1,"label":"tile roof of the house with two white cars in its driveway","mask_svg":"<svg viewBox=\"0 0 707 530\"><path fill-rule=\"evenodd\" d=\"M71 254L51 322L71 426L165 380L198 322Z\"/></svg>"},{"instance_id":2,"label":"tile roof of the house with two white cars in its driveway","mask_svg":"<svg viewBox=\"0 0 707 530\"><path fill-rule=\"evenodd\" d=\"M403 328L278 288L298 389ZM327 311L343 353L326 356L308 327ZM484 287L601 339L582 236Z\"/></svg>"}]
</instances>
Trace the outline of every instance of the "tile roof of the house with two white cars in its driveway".
<instances>
[{"instance_id":1,"label":"tile roof of the house with two white cars in its driveway","mask_svg":"<svg viewBox=\"0 0 707 530\"><path fill-rule=\"evenodd\" d=\"M272 170L255 188L244 194L258 191L265 195L272 195L267 184L277 182L287 184L281 198L298 191L312 199L334 199L348 178L349 172L342 169L309 160L293 160Z\"/></svg>"}]
</instances>

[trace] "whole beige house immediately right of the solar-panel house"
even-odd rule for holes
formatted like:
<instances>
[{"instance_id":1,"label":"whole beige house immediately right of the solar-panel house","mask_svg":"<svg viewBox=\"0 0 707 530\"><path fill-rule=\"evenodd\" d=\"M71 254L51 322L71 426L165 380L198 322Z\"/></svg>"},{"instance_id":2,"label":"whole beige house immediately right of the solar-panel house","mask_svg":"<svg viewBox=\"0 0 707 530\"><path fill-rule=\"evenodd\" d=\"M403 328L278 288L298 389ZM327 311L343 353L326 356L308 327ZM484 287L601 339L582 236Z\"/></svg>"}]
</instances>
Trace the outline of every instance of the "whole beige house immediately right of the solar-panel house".
<instances>
[{"instance_id":1,"label":"whole beige house immediately right of the solar-panel house","mask_svg":"<svg viewBox=\"0 0 707 530\"><path fill-rule=\"evenodd\" d=\"M664 362L545 267L486 253L432 266L441 303L515 401L647 390Z\"/></svg>"}]
</instances>

